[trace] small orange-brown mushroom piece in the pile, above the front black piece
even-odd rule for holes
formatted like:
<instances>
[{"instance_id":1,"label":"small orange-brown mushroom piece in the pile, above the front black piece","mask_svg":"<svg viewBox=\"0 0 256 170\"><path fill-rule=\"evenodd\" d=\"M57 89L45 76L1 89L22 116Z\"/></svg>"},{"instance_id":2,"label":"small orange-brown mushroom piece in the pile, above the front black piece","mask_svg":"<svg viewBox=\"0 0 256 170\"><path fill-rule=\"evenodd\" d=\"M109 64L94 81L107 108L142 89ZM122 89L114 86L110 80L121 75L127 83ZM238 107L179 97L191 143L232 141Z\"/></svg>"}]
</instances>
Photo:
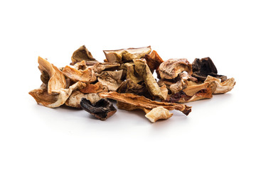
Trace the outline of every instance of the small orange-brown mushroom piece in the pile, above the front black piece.
<instances>
[{"instance_id":1,"label":"small orange-brown mushroom piece in the pile, above the front black piece","mask_svg":"<svg viewBox=\"0 0 256 170\"><path fill-rule=\"evenodd\" d=\"M98 94L100 92L107 92L107 86L103 86L102 83L97 82L96 84L86 84L85 87L79 89L83 94Z\"/></svg>"}]
</instances>

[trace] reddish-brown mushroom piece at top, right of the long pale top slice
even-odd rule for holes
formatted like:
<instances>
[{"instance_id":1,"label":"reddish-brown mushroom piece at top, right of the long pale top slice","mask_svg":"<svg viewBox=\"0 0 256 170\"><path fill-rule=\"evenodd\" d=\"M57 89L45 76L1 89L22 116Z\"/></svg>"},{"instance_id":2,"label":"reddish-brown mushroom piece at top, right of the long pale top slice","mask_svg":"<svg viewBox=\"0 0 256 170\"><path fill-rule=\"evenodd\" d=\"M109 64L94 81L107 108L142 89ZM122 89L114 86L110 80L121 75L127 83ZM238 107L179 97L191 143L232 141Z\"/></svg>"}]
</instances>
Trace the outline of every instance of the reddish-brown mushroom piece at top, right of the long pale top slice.
<instances>
[{"instance_id":1,"label":"reddish-brown mushroom piece at top, right of the long pale top slice","mask_svg":"<svg viewBox=\"0 0 256 170\"><path fill-rule=\"evenodd\" d=\"M153 73L155 69L159 68L159 65L164 62L161 57L157 54L155 50L151 52L150 55L145 55L146 64L149 66L149 69Z\"/></svg>"}]
</instances>

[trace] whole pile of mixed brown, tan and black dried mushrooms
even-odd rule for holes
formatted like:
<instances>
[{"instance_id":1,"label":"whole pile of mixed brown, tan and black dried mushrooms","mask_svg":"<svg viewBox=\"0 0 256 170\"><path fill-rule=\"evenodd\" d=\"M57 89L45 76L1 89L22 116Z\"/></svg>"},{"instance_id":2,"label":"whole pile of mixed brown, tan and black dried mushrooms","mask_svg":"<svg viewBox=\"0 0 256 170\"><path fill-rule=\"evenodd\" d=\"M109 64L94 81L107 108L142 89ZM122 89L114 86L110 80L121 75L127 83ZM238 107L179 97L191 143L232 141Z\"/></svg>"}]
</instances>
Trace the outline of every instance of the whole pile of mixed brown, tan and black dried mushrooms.
<instances>
[{"instance_id":1,"label":"whole pile of mixed brown, tan and black dried mushrooms","mask_svg":"<svg viewBox=\"0 0 256 170\"><path fill-rule=\"evenodd\" d=\"M192 64L185 58L164 61L151 46L103 52L106 60L98 62L83 45L62 68L38 57L43 84L29 94L43 106L82 108L100 120L116 113L111 98L117 108L141 109L154 123L171 118L174 109L188 115L191 107L183 103L225 94L235 86L235 79L218 74L210 57Z\"/></svg>"}]
</instances>

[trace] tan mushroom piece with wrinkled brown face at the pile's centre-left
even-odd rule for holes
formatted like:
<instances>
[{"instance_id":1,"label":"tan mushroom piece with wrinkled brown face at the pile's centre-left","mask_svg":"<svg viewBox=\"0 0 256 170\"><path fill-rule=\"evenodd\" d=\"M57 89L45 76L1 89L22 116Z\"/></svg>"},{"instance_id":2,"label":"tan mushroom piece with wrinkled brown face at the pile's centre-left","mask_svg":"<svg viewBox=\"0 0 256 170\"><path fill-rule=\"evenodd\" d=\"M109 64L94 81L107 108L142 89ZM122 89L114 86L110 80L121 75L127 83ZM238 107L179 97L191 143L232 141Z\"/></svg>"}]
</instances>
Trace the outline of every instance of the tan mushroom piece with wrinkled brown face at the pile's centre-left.
<instances>
[{"instance_id":1,"label":"tan mushroom piece with wrinkled brown face at the pile's centre-left","mask_svg":"<svg viewBox=\"0 0 256 170\"><path fill-rule=\"evenodd\" d=\"M97 80L102 83L110 91L116 91L117 88L122 84L122 70L111 72L105 71L100 74L97 74Z\"/></svg>"}]
</instances>

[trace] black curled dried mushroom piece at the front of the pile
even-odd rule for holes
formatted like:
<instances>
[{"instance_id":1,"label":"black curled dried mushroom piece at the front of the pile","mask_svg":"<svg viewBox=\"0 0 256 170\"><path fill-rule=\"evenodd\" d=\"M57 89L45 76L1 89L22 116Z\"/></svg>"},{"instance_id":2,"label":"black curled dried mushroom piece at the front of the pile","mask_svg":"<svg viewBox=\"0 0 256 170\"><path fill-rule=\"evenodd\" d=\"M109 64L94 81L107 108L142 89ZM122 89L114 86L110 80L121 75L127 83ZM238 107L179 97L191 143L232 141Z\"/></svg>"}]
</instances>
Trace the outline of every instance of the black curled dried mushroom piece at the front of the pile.
<instances>
[{"instance_id":1,"label":"black curled dried mushroom piece at the front of the pile","mask_svg":"<svg viewBox=\"0 0 256 170\"><path fill-rule=\"evenodd\" d=\"M100 99L100 101L97 101L95 104L92 104L86 98L82 98L80 106L100 120L106 120L117 112L113 104L104 98Z\"/></svg>"}]
</instances>

